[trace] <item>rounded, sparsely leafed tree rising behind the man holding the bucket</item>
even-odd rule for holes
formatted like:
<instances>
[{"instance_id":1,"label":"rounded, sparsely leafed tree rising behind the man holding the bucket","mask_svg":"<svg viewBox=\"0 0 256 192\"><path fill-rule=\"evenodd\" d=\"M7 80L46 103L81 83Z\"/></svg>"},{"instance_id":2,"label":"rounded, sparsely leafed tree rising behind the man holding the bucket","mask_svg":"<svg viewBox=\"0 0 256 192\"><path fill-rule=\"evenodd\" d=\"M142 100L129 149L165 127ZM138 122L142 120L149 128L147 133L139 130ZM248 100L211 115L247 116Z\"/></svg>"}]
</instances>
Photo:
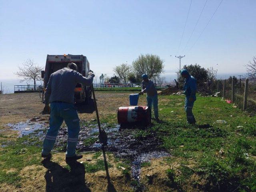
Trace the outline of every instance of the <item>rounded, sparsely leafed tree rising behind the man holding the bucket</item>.
<instances>
[{"instance_id":1,"label":"rounded, sparsely leafed tree rising behind the man holding the bucket","mask_svg":"<svg viewBox=\"0 0 256 192\"><path fill-rule=\"evenodd\" d=\"M158 55L146 54L139 55L132 62L132 70L135 75L142 76L147 74L148 78L159 76L164 71L164 61Z\"/></svg>"}]
</instances>

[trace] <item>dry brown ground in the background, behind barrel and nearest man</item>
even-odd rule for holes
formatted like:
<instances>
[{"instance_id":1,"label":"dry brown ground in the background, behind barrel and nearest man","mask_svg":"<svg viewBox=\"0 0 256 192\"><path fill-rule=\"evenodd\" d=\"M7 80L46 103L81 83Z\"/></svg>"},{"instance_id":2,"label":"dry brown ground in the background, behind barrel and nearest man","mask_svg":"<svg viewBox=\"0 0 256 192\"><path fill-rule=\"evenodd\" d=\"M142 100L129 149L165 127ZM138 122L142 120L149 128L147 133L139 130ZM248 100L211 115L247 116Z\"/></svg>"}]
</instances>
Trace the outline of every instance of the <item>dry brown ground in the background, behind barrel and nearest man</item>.
<instances>
[{"instance_id":1,"label":"dry brown ground in the background, behind barrel and nearest man","mask_svg":"<svg viewBox=\"0 0 256 192\"><path fill-rule=\"evenodd\" d=\"M133 92L96 91L96 100L100 117L116 114L118 107L129 106L129 94ZM146 105L146 99L139 100L140 105ZM18 93L0 95L0 126L8 123L18 123L34 117L48 117L39 114L44 108L39 93ZM91 120L96 118L93 100L88 105L78 105L79 118Z\"/></svg>"}]
</instances>

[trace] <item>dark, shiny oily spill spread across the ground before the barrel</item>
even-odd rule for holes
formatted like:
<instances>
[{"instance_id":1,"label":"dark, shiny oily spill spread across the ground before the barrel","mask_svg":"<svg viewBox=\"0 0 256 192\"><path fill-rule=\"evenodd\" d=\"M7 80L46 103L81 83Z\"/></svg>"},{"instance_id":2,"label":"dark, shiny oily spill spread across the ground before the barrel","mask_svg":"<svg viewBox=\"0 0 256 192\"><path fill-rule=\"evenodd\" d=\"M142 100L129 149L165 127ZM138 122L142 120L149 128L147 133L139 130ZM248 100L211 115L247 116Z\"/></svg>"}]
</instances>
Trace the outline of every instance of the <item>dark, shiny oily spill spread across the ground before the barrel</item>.
<instances>
[{"instance_id":1,"label":"dark, shiny oily spill spread across the ground before the barrel","mask_svg":"<svg viewBox=\"0 0 256 192\"><path fill-rule=\"evenodd\" d=\"M18 130L20 136L28 135L44 139L46 123L39 120L28 120L18 124L8 124L12 129ZM120 127L120 125L102 124L108 136L108 145L105 150L112 152L117 158L130 160L132 177L138 182L136 191L143 191L140 185L140 170L143 162L150 162L152 158L170 156L161 148L161 140L154 132L141 126ZM68 128L62 126L59 130L54 151L66 151ZM98 126L96 122L81 122L77 149L79 152L101 151L102 146L98 141Z\"/></svg>"}]
</instances>

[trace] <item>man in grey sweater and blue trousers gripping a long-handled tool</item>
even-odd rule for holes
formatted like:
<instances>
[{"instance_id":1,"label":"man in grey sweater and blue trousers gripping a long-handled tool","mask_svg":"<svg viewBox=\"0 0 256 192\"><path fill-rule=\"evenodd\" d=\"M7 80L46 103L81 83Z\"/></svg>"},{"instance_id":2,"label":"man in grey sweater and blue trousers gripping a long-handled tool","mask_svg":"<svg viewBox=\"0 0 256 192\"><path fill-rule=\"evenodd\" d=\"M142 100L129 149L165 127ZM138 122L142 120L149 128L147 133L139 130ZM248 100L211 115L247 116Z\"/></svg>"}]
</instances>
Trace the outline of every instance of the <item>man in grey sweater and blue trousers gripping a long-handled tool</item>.
<instances>
[{"instance_id":1,"label":"man in grey sweater and blue trousers gripping a long-handled tool","mask_svg":"<svg viewBox=\"0 0 256 192\"><path fill-rule=\"evenodd\" d=\"M82 155L76 154L76 145L80 131L79 118L74 106L74 90L77 83L90 86L94 74L89 73L88 78L77 72L75 63L69 63L67 67L50 75L46 92L44 112L50 113L50 127L44 138L42 157L51 158L51 150L54 146L58 131L63 120L68 126L68 144L66 161L77 160ZM51 107L49 106L51 104Z\"/></svg>"}]
</instances>

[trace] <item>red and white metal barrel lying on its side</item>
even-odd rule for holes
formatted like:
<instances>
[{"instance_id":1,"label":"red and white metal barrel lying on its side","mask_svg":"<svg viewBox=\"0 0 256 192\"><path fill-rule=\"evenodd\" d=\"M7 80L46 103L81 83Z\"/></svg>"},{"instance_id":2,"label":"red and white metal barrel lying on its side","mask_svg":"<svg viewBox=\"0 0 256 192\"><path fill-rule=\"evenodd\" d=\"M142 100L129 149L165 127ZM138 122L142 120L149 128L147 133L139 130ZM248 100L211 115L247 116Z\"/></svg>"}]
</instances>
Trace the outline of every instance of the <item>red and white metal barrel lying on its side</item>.
<instances>
[{"instance_id":1,"label":"red and white metal barrel lying on its side","mask_svg":"<svg viewBox=\"0 0 256 192\"><path fill-rule=\"evenodd\" d=\"M151 122L151 111L147 106L120 107L117 112L118 124L141 122L145 125Z\"/></svg>"}]
</instances>

